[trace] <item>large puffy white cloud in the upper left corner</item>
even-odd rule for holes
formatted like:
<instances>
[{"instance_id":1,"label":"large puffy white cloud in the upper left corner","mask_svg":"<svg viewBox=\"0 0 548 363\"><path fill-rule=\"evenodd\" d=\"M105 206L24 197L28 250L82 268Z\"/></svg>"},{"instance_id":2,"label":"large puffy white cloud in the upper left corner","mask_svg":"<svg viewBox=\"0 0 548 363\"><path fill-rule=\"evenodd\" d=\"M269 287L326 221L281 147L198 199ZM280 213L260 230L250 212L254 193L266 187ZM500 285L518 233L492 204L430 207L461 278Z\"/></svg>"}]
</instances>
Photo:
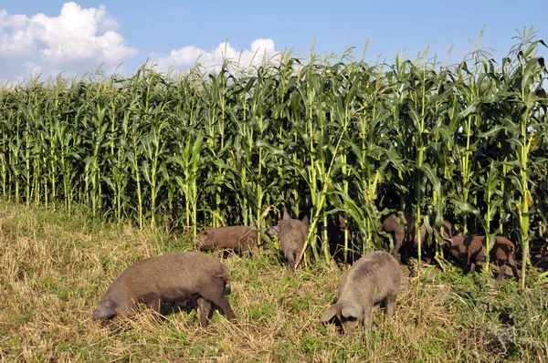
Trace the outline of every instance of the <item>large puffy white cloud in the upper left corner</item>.
<instances>
[{"instance_id":1,"label":"large puffy white cloud in the upper left corner","mask_svg":"<svg viewBox=\"0 0 548 363\"><path fill-rule=\"evenodd\" d=\"M9 15L0 10L0 79L85 73L104 63L112 71L137 54L117 33L118 23L105 7L63 5L59 16Z\"/></svg>"}]
</instances>

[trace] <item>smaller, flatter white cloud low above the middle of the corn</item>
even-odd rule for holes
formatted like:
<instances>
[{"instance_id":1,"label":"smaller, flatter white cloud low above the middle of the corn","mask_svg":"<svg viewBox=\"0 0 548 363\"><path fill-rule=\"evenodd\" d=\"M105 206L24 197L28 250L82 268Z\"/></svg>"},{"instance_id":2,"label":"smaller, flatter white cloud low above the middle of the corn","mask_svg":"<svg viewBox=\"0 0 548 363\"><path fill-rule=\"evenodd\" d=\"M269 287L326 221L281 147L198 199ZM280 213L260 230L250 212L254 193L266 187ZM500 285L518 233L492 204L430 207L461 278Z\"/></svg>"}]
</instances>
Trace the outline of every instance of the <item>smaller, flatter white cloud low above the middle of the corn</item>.
<instances>
[{"instance_id":1,"label":"smaller, flatter white cloud low above the middle of the corn","mask_svg":"<svg viewBox=\"0 0 548 363\"><path fill-rule=\"evenodd\" d=\"M265 61L275 61L279 58L279 51L276 51L272 39L257 39L251 43L251 49L242 51L237 51L228 42L223 42L209 52L188 46L172 50L169 56L153 53L150 58L157 64L159 71L167 71L170 68L179 71L192 67L196 62L206 70L218 70L225 59L236 63L237 67L253 67Z\"/></svg>"}]
</instances>

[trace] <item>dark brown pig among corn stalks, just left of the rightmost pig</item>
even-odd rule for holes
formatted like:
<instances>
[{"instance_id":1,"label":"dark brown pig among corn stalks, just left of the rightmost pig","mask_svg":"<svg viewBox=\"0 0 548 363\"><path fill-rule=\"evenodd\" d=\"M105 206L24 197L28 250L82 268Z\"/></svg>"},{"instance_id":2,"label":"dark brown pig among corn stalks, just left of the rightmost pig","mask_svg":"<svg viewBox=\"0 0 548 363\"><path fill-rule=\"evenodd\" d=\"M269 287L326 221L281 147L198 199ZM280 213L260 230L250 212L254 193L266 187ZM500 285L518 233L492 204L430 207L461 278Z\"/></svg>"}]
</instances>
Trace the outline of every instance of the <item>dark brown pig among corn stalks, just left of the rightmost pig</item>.
<instances>
[{"instance_id":1,"label":"dark brown pig among corn stalks, just left of the rightmost pig","mask_svg":"<svg viewBox=\"0 0 548 363\"><path fill-rule=\"evenodd\" d=\"M400 223L401 219L401 223ZM415 241L416 228L415 219L412 213L398 212L397 214L389 215L385 221L383 221L382 230L389 233L394 241L394 250L392 255L396 260L398 259L398 253L401 254L401 261L406 263L409 257L409 250L416 249L417 244ZM448 221L443 221L443 237L451 238L455 235L459 235L457 230ZM428 235L427 227L423 224L420 227L420 235L422 241L422 248L427 255L427 260L433 258L434 249L427 244ZM403 249L402 249L403 247ZM386 251L390 250L390 244L385 244Z\"/></svg>"}]
</instances>

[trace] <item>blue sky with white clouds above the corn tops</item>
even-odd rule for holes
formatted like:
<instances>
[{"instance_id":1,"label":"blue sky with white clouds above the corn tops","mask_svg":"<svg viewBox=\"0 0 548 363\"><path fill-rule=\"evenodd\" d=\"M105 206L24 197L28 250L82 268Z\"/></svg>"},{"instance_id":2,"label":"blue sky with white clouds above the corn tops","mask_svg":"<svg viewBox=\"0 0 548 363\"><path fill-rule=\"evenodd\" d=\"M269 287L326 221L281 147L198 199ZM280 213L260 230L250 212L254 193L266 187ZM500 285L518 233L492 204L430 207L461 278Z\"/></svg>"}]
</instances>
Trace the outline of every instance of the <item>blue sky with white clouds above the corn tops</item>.
<instances>
[{"instance_id":1,"label":"blue sky with white clouds above the corn tops","mask_svg":"<svg viewBox=\"0 0 548 363\"><path fill-rule=\"evenodd\" d=\"M544 2L277 2L102 0L68 3L58 0L0 2L0 79L20 80L33 71L68 76L100 63L107 72L123 62L131 73L147 58L160 70L184 69L199 54L205 66L218 64L225 51L250 62L256 50L273 54L290 48L341 55L356 47L366 61L382 54L393 63L406 49L416 58L429 55L458 62L473 49L481 28L480 47L490 47L497 61L516 43L516 29L534 26L537 39L548 43L548 10ZM228 41L227 45L219 46ZM255 42L255 43L254 43ZM541 52L547 54L548 49Z\"/></svg>"}]
</instances>

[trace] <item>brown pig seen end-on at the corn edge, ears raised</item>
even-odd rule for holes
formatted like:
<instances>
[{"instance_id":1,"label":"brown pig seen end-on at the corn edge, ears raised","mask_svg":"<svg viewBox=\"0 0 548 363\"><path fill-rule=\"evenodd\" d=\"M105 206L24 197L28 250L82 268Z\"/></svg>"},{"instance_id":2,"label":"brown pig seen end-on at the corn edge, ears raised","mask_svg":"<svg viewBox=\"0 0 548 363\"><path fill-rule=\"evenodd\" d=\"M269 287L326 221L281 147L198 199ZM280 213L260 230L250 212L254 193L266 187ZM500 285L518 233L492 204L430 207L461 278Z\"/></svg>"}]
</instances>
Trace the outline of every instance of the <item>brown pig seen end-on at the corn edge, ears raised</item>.
<instances>
[{"instance_id":1,"label":"brown pig seen end-on at the corn edge, ears raised","mask_svg":"<svg viewBox=\"0 0 548 363\"><path fill-rule=\"evenodd\" d=\"M295 274L295 262L300 256L308 235L308 217L302 221L292 219L288 210L284 210L283 219L278 225L270 227L266 232L269 235L278 235L281 252L290 264L291 275Z\"/></svg>"}]
</instances>

